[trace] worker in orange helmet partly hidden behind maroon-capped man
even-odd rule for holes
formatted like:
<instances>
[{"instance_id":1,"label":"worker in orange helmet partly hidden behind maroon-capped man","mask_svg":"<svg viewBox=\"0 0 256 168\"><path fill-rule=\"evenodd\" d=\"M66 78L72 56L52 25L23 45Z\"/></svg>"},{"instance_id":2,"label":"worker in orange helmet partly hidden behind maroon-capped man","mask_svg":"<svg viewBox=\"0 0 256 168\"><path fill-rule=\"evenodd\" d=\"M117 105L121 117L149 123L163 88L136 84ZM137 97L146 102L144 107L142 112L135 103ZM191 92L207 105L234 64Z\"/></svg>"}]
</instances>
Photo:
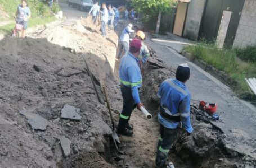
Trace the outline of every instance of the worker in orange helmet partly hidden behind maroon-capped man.
<instances>
[{"instance_id":1,"label":"worker in orange helmet partly hidden behind maroon-capped man","mask_svg":"<svg viewBox=\"0 0 256 168\"><path fill-rule=\"evenodd\" d=\"M141 41L142 47L141 47L141 52L138 55L138 59L140 60L140 64L141 63L146 63L147 59L149 58L149 49L147 49L147 46L143 43L143 41L145 40L145 34L143 31L137 31L136 32L136 39Z\"/></svg>"}]
</instances>

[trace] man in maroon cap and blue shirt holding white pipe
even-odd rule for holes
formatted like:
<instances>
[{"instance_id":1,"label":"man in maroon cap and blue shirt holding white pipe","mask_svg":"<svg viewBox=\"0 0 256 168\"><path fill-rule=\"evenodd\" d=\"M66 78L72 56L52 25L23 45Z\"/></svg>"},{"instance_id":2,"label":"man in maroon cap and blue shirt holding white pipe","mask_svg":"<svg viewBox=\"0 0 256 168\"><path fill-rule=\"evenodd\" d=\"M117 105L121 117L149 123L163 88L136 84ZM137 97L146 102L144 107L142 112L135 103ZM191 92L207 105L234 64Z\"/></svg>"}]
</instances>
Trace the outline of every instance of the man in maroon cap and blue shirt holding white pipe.
<instances>
[{"instance_id":1,"label":"man in maroon cap and blue shirt holding white pipe","mask_svg":"<svg viewBox=\"0 0 256 168\"><path fill-rule=\"evenodd\" d=\"M118 133L125 136L132 136L133 127L129 124L134 108L140 110L141 103L138 88L142 84L142 76L138 67L138 54L141 50L141 41L133 39L130 43L129 53L124 55L119 66L119 78L123 96L123 110L119 117Z\"/></svg>"}]
</instances>

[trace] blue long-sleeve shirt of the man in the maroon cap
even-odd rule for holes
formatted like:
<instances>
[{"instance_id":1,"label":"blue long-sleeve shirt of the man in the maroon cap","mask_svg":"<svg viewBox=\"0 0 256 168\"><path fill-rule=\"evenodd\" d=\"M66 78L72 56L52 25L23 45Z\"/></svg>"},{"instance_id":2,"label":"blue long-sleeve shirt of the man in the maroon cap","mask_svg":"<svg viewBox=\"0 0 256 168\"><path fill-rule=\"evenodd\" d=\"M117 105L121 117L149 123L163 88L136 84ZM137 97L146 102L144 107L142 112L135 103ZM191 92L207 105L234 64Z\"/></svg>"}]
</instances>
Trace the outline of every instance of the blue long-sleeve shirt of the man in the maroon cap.
<instances>
[{"instance_id":1,"label":"blue long-sleeve shirt of the man in the maroon cap","mask_svg":"<svg viewBox=\"0 0 256 168\"><path fill-rule=\"evenodd\" d=\"M136 104L140 103L138 88L142 84L141 70L138 67L138 58L132 53L124 55L119 66L120 83L132 89L132 97Z\"/></svg>"}]
</instances>

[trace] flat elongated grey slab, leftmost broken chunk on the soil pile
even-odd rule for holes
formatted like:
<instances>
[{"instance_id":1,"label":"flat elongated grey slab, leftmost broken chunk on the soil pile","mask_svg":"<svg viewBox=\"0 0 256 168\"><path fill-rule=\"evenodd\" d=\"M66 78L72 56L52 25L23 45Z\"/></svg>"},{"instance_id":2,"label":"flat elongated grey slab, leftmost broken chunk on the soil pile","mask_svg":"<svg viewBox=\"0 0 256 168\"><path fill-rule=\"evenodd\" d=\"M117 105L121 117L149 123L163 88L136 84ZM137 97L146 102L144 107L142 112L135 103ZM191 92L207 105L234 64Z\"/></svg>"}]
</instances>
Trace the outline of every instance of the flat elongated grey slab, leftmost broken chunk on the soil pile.
<instances>
[{"instance_id":1,"label":"flat elongated grey slab, leftmost broken chunk on the soil pile","mask_svg":"<svg viewBox=\"0 0 256 168\"><path fill-rule=\"evenodd\" d=\"M30 113L26 109L19 111L21 115L26 116L26 119L28 119L28 123L30 124L32 129L35 130L46 130L46 126L49 124L48 121L43 118L42 116Z\"/></svg>"}]
</instances>

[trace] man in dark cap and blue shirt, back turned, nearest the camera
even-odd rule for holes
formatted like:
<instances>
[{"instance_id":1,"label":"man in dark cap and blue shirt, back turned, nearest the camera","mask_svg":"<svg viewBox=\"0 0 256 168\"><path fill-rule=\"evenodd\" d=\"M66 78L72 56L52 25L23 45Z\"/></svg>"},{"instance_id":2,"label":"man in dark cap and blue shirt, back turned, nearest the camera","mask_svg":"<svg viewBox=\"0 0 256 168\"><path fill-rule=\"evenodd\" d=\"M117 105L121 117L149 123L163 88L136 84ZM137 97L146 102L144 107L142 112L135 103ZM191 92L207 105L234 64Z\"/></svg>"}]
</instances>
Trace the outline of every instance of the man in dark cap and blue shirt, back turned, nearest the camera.
<instances>
[{"instance_id":1,"label":"man in dark cap and blue shirt, back turned, nearest the camera","mask_svg":"<svg viewBox=\"0 0 256 168\"><path fill-rule=\"evenodd\" d=\"M181 125L186 134L191 134L190 124L190 92L185 83L190 78L190 68L187 63L178 66L176 79L168 79L161 83L158 90L160 99L160 137L158 141L155 164L156 167L167 167L168 152L178 138ZM184 131L184 130L182 130Z\"/></svg>"}]
</instances>

